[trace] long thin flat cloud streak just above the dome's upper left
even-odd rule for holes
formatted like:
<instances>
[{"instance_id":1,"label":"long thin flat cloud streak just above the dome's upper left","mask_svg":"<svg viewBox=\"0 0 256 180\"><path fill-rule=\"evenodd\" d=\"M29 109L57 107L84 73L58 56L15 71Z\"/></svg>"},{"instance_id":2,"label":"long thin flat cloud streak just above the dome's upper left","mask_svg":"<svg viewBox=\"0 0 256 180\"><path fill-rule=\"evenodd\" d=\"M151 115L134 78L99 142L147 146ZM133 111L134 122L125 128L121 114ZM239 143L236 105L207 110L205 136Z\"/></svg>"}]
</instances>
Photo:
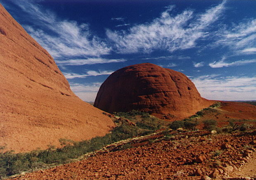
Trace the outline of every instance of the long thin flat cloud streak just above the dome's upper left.
<instances>
[{"instance_id":1,"label":"long thin flat cloud streak just above the dome's upper left","mask_svg":"<svg viewBox=\"0 0 256 180\"><path fill-rule=\"evenodd\" d=\"M102 63L119 63L125 59L104 59L104 58L88 58L88 59L70 59L65 61L56 60L57 65L85 65L85 64L102 64Z\"/></svg>"}]
</instances>

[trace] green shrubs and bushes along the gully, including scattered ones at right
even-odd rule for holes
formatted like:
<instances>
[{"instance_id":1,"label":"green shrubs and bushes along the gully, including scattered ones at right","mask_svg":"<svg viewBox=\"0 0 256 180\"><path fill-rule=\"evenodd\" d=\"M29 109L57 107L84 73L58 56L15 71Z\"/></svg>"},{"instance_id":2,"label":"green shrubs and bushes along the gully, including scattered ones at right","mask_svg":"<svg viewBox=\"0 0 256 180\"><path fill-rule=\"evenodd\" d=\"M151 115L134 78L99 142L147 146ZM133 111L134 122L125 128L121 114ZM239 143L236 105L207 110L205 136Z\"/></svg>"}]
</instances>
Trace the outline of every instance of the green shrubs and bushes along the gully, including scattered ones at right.
<instances>
[{"instance_id":1,"label":"green shrubs and bushes along the gully, including scattered ones at right","mask_svg":"<svg viewBox=\"0 0 256 180\"><path fill-rule=\"evenodd\" d=\"M212 112L216 112L216 107L220 107L220 103L215 103L209 108L197 112L195 115L174 122L166 122L149 115L145 112L132 110L130 112L114 112L116 127L103 137L95 137L90 140L74 142L68 139L59 139L61 147L48 145L47 150L33 150L26 153L15 154L13 151L3 152L4 148L0 147L0 178L6 178L11 175L19 174L23 171L37 171L43 168L49 168L59 164L69 163L81 155L95 150L100 150L111 143L120 140L126 140L136 136L145 136L161 129L164 135L163 139L170 139L171 129L189 129L195 130L197 125L203 123L203 128L211 131L216 130L218 133L232 133L235 131L247 131L249 125L246 120L230 120L229 124L224 127L217 127L218 123L214 119L201 120L200 117ZM125 119L123 121L123 119ZM128 119L128 120L127 120ZM148 138L148 141L154 142L154 139ZM133 147L131 143L122 145L119 150ZM214 156L218 156L221 152L216 152Z\"/></svg>"}]
</instances>

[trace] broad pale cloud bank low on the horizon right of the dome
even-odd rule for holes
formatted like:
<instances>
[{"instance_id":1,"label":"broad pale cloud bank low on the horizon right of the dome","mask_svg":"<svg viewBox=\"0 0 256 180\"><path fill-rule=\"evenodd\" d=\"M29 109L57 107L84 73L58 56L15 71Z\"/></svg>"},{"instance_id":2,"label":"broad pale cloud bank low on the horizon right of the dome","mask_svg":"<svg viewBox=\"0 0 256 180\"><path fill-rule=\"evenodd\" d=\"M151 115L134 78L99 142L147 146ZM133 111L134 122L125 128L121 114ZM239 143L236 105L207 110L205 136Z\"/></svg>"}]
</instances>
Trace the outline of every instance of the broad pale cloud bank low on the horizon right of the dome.
<instances>
[{"instance_id":1,"label":"broad pale cloud bank low on the horizon right of the dome","mask_svg":"<svg viewBox=\"0 0 256 180\"><path fill-rule=\"evenodd\" d=\"M202 97L212 100L256 100L256 77L201 76L191 79Z\"/></svg>"}]
</instances>

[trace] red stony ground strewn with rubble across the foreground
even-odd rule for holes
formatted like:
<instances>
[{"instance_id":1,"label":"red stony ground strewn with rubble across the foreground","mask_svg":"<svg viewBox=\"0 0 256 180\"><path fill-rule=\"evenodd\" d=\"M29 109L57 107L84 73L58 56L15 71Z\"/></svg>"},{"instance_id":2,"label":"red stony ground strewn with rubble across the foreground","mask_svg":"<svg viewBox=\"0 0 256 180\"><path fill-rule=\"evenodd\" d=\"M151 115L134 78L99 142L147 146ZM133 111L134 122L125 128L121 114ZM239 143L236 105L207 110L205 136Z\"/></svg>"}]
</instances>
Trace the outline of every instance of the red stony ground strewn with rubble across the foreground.
<instances>
[{"instance_id":1,"label":"red stony ground strewn with rubble across the foreground","mask_svg":"<svg viewBox=\"0 0 256 180\"><path fill-rule=\"evenodd\" d=\"M158 133L156 142L131 140L133 148L108 146L82 161L14 179L256 179L255 134L172 131L159 140L163 135Z\"/></svg>"}]
</instances>

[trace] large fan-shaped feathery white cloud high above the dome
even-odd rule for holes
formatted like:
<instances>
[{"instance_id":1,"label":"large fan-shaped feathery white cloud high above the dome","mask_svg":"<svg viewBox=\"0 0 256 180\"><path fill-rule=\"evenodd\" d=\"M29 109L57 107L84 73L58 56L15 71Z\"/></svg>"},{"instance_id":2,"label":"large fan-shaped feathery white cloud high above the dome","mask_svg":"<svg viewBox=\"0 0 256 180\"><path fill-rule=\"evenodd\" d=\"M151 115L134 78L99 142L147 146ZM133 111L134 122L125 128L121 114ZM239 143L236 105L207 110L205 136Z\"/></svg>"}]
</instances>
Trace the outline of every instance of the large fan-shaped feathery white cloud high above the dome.
<instances>
[{"instance_id":1,"label":"large fan-shaped feathery white cloud high above the dome","mask_svg":"<svg viewBox=\"0 0 256 180\"><path fill-rule=\"evenodd\" d=\"M107 30L107 36L114 42L119 53L150 53L155 49L173 52L189 49L196 45L196 40L204 37L207 26L215 22L223 12L225 2L208 9L204 14L194 15L192 10L185 10L176 16L171 15L171 8L154 19L151 23L135 25L128 31Z\"/></svg>"}]
</instances>

